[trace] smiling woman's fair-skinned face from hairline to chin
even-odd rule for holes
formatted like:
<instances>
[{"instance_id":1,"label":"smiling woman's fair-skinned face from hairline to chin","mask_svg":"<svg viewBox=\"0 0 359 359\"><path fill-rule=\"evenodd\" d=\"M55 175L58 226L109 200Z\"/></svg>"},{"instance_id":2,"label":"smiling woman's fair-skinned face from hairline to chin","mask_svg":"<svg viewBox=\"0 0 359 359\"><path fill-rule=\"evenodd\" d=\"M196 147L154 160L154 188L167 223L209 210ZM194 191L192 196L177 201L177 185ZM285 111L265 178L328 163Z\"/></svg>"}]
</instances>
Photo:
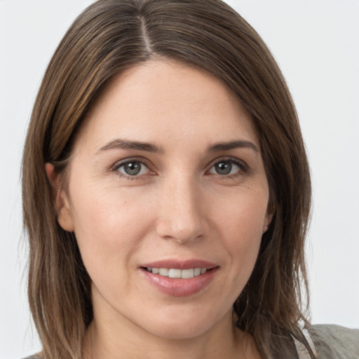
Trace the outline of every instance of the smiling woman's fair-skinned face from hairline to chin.
<instances>
[{"instance_id":1,"label":"smiling woman's fair-skinned face from hairline to chin","mask_svg":"<svg viewBox=\"0 0 359 359\"><path fill-rule=\"evenodd\" d=\"M161 60L102 93L60 197L95 322L168 339L231 320L270 220L248 113L215 77Z\"/></svg>"}]
</instances>

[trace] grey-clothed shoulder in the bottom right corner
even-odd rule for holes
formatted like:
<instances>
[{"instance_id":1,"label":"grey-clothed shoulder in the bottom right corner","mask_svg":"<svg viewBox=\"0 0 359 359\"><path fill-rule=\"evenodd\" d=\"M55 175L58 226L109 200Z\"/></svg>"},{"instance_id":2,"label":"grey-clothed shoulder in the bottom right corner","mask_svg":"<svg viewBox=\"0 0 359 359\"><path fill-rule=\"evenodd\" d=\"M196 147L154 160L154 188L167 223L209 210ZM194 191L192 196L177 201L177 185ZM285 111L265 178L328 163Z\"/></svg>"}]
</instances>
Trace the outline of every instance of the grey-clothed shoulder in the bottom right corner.
<instances>
[{"instance_id":1,"label":"grey-clothed shoulder in the bottom right corner","mask_svg":"<svg viewBox=\"0 0 359 359\"><path fill-rule=\"evenodd\" d=\"M340 325L312 325L309 334L318 359L359 359L359 330Z\"/></svg>"}]
</instances>

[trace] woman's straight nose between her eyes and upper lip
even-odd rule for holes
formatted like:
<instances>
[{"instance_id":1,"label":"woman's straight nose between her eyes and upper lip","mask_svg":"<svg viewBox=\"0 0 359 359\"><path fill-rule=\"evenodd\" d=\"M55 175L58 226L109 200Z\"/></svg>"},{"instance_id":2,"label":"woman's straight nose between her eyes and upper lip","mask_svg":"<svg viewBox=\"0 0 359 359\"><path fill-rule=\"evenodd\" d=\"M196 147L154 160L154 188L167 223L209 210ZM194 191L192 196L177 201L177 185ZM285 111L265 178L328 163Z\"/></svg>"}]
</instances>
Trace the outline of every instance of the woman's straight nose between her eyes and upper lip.
<instances>
[{"instance_id":1,"label":"woman's straight nose between her eyes and upper lip","mask_svg":"<svg viewBox=\"0 0 359 359\"><path fill-rule=\"evenodd\" d=\"M203 202L194 180L169 180L159 191L158 197L158 236L188 243L198 241L204 235Z\"/></svg>"}]
</instances>

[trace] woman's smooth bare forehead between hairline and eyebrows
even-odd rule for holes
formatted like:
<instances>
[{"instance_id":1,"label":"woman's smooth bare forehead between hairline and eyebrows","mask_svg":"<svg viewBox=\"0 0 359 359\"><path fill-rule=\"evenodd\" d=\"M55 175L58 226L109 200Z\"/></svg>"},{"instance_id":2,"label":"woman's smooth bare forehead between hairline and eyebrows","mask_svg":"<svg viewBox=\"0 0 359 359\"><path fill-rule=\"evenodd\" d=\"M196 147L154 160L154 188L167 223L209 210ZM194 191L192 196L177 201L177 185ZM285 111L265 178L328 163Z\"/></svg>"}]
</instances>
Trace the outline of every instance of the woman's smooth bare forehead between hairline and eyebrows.
<instances>
[{"instance_id":1,"label":"woman's smooth bare forehead between hairline and eyebrows","mask_svg":"<svg viewBox=\"0 0 359 359\"><path fill-rule=\"evenodd\" d=\"M147 61L115 76L85 121L81 133L94 142L112 136L210 145L239 136L259 147L250 115L222 81L174 61Z\"/></svg>"}]
</instances>

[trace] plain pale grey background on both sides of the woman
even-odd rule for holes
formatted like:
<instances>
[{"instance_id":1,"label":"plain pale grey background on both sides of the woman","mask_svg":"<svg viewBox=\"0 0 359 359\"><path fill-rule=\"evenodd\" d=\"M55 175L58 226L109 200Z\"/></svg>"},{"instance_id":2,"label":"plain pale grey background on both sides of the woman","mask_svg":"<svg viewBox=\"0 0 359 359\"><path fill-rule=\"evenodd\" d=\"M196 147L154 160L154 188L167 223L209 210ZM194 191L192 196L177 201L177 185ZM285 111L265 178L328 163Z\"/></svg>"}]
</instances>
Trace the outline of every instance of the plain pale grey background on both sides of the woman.
<instances>
[{"instance_id":1,"label":"plain pale grey background on both sides of the woman","mask_svg":"<svg viewBox=\"0 0 359 359\"><path fill-rule=\"evenodd\" d=\"M0 0L0 358L40 348L25 294L20 158L46 65L89 0ZM359 327L359 1L228 0L275 54L297 104L314 187L313 323Z\"/></svg>"}]
</instances>

